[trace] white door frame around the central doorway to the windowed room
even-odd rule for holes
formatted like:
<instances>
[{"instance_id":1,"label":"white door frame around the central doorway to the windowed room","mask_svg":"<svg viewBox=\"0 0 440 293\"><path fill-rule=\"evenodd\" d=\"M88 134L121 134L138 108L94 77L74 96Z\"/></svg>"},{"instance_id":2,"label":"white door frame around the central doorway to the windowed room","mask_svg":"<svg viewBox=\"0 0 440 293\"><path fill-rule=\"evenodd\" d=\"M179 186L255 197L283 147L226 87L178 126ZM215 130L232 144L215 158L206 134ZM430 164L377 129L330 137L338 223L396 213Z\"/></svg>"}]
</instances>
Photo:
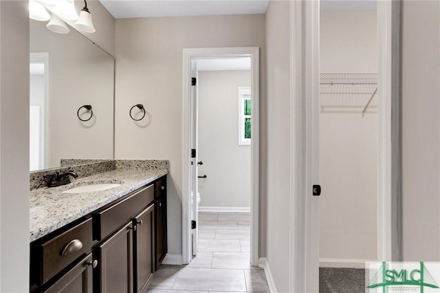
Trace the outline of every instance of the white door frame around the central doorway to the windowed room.
<instances>
[{"instance_id":1,"label":"white door frame around the central doorway to the windowed room","mask_svg":"<svg viewBox=\"0 0 440 293\"><path fill-rule=\"evenodd\" d=\"M191 61L203 58L250 57L251 60L251 230L250 261L259 265L259 47L192 48L183 51L183 113L182 113L182 262L190 263L190 95Z\"/></svg>"}]
</instances>

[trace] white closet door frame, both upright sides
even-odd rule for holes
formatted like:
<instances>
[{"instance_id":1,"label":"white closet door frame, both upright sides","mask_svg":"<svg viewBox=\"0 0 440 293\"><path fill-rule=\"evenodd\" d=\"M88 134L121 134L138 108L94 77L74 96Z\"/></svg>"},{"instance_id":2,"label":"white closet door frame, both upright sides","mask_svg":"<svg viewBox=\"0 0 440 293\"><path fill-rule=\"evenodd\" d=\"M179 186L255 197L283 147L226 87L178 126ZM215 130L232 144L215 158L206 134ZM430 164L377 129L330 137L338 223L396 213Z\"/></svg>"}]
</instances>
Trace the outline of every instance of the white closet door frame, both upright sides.
<instances>
[{"instance_id":1,"label":"white closet door frame, both upright sides","mask_svg":"<svg viewBox=\"0 0 440 293\"><path fill-rule=\"evenodd\" d=\"M318 205L316 88L319 85L319 1L294 1L291 32L291 188L289 292L317 292ZM379 136L377 158L377 260L401 261L401 3L377 1ZM311 151L310 151L311 150Z\"/></svg>"}]
</instances>

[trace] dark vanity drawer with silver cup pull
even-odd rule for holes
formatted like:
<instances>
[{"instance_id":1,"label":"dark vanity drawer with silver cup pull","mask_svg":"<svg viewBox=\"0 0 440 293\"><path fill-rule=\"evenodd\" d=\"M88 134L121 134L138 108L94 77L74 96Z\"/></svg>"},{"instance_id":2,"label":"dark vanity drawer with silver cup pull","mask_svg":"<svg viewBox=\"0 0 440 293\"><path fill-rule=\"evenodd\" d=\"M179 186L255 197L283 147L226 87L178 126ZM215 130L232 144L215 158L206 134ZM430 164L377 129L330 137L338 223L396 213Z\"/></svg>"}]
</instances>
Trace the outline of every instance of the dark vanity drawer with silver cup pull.
<instances>
[{"instance_id":1,"label":"dark vanity drawer with silver cup pull","mask_svg":"<svg viewBox=\"0 0 440 293\"><path fill-rule=\"evenodd\" d=\"M39 245L41 272L38 281L42 285L63 270L78 257L91 252L91 219L83 221L61 235Z\"/></svg>"}]
</instances>

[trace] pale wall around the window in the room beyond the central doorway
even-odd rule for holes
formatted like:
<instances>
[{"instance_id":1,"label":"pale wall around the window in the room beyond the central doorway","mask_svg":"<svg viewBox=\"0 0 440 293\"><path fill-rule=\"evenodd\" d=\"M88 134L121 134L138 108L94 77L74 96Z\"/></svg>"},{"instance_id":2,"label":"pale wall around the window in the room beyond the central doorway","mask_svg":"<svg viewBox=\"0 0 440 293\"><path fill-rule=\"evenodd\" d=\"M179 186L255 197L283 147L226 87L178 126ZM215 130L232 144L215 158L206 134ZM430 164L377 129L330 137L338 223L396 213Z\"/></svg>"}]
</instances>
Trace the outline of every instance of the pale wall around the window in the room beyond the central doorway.
<instances>
[{"instance_id":1,"label":"pale wall around the window in the room beyond the central doorway","mask_svg":"<svg viewBox=\"0 0 440 293\"><path fill-rule=\"evenodd\" d=\"M199 72L200 206L250 208L250 145L239 145L239 87L250 71Z\"/></svg>"}]
</instances>

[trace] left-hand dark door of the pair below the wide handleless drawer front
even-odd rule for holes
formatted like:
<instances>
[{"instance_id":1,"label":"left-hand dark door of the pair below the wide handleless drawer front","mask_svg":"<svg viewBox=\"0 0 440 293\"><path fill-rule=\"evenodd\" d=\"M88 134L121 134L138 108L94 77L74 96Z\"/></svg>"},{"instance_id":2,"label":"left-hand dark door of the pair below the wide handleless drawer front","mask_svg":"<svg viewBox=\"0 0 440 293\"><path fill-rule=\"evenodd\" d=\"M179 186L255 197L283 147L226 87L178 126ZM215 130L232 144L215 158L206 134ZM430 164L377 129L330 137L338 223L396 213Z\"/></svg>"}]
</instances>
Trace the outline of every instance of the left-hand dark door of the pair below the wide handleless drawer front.
<instances>
[{"instance_id":1,"label":"left-hand dark door of the pair below the wide handleless drawer front","mask_svg":"<svg viewBox=\"0 0 440 293\"><path fill-rule=\"evenodd\" d=\"M98 246L97 292L133 292L132 230L130 221Z\"/></svg>"}]
</instances>

